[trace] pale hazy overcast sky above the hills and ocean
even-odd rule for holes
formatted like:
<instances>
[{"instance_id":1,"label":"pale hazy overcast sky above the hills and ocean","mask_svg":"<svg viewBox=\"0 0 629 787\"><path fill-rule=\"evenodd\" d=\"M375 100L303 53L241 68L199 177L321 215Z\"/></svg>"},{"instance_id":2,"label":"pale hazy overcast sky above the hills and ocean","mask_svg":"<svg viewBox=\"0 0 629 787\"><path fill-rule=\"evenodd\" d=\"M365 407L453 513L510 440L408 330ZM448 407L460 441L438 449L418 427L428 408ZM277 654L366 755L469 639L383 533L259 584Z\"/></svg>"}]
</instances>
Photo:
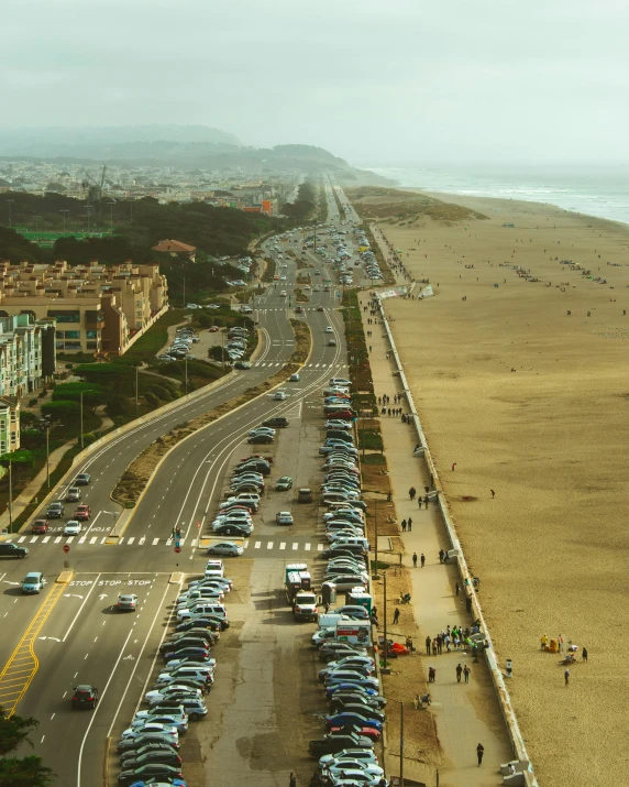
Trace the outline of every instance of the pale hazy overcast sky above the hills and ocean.
<instances>
[{"instance_id":1,"label":"pale hazy overcast sky above the hills and ocean","mask_svg":"<svg viewBox=\"0 0 629 787\"><path fill-rule=\"evenodd\" d=\"M627 160L625 0L19 0L5 125L201 123L355 164Z\"/></svg>"}]
</instances>

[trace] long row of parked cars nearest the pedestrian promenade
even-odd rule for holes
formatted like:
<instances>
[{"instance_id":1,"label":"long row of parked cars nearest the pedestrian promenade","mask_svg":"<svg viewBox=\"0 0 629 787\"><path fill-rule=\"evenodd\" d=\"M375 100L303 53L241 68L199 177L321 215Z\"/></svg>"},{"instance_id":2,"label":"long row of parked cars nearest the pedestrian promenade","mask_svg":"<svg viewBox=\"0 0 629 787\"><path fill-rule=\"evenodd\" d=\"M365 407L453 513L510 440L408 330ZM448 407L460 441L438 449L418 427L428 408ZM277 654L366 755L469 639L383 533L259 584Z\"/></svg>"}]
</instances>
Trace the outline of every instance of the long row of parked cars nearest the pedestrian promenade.
<instances>
[{"instance_id":1,"label":"long row of parked cars nearest the pedestrian promenade","mask_svg":"<svg viewBox=\"0 0 629 787\"><path fill-rule=\"evenodd\" d=\"M351 418L330 418L332 401L341 398L351 406L350 381L332 379L323 392L325 401L325 456L323 514L327 550L323 584L336 591L363 593L368 586L368 542L365 534L365 504L361 499L357 451L352 437ZM368 598L368 597L367 597ZM339 624L361 621L362 635L340 636ZM325 734L309 743L310 756L319 759L321 777L339 787L384 787L384 769L374 752L385 722L386 699L379 695L375 662L367 651L369 613L365 606L345 604L319 617L319 631L312 637L319 658L325 666L319 670L328 701Z\"/></svg>"}]
</instances>

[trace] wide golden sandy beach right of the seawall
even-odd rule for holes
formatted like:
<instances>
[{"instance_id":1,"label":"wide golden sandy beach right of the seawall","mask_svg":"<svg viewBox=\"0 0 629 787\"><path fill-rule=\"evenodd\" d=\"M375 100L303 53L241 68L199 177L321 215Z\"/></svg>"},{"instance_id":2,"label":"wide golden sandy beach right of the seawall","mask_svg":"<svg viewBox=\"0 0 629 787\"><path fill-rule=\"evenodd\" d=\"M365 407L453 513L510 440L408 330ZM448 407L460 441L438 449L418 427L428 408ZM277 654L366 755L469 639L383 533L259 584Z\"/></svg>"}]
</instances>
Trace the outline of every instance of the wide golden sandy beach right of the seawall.
<instances>
[{"instance_id":1,"label":"wide golden sandy beach right of the seawall","mask_svg":"<svg viewBox=\"0 0 629 787\"><path fill-rule=\"evenodd\" d=\"M388 222L379 205L378 226L435 292L386 308L498 662L514 662L509 689L541 785L624 781L629 227L432 196L487 218L396 210ZM580 647L567 687L544 633Z\"/></svg>"}]
</instances>

